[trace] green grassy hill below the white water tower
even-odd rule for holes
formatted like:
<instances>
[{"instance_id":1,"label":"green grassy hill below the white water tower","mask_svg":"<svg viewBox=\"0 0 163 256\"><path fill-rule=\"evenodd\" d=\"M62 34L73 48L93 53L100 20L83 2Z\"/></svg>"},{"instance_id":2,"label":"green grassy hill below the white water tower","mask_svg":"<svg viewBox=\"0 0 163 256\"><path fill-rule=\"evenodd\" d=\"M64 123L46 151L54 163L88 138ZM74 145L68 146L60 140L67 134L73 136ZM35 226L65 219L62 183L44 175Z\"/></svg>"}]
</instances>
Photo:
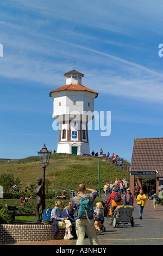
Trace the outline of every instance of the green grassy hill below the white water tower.
<instances>
[{"instance_id":1,"label":"green grassy hill below the white water tower","mask_svg":"<svg viewBox=\"0 0 163 256\"><path fill-rule=\"evenodd\" d=\"M100 161L101 188L106 181L115 181L116 178L126 177L129 172L118 169L109 161ZM126 162L129 166L129 163ZM42 178L42 167L39 157L31 156L26 159L11 162L0 162L0 176L3 173L13 174L21 180L22 188L36 184L37 178ZM46 168L46 179L52 182L51 190L67 188L77 190L78 184L84 183L86 187L98 188L98 159L92 156L76 156L70 154L52 154L49 166Z\"/></svg>"}]
</instances>

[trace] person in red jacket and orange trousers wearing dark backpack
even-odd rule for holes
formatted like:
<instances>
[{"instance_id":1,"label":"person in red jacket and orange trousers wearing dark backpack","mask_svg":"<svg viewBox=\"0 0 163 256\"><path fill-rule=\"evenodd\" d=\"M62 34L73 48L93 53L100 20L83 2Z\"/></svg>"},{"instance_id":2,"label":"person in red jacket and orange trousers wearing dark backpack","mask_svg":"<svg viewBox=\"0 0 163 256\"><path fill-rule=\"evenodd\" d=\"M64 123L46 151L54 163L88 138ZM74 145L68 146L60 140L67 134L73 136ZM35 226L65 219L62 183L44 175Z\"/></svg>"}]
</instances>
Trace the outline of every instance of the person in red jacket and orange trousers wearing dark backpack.
<instances>
[{"instance_id":1,"label":"person in red jacket and orange trousers wearing dark backpack","mask_svg":"<svg viewBox=\"0 0 163 256\"><path fill-rule=\"evenodd\" d=\"M118 193L117 187L115 187L113 189L113 192L110 194L110 197L109 197L108 202L106 204L108 205L109 203L111 203L110 209L109 209L109 215L112 215L114 210L116 209L116 207L118 205L122 204L121 194Z\"/></svg>"}]
</instances>

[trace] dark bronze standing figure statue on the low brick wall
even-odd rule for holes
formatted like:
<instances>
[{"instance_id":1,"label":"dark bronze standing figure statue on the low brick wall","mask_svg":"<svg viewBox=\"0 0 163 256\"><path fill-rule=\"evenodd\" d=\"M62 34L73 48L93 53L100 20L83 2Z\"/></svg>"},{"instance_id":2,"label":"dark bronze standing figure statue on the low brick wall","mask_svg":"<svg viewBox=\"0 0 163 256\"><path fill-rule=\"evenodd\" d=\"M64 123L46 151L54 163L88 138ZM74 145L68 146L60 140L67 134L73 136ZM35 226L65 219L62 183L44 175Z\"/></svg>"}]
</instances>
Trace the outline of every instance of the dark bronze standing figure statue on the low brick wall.
<instances>
[{"instance_id":1,"label":"dark bronze standing figure statue on the low brick wall","mask_svg":"<svg viewBox=\"0 0 163 256\"><path fill-rule=\"evenodd\" d=\"M39 208L40 205L42 204L42 179L37 178L37 184L38 186L36 187L36 190L34 193L36 194L36 205L35 205L35 214L36 214L36 222L41 222L40 220L40 215L39 215Z\"/></svg>"}]
</instances>

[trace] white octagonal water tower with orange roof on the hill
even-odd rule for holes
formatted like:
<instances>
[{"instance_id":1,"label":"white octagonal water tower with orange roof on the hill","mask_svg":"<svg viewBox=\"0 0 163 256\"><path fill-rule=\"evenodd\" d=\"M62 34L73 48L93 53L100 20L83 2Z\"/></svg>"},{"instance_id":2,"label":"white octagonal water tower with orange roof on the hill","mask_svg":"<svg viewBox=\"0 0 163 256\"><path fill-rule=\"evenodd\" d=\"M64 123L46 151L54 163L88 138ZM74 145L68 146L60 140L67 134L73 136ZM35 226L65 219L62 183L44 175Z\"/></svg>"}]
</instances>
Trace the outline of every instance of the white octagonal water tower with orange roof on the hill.
<instances>
[{"instance_id":1,"label":"white octagonal water tower with orange roof on the hill","mask_svg":"<svg viewBox=\"0 0 163 256\"><path fill-rule=\"evenodd\" d=\"M64 74L65 86L52 90L53 118L59 121L57 153L90 155L87 123L92 120L95 91L82 86L84 74L71 70Z\"/></svg>"}]
</instances>

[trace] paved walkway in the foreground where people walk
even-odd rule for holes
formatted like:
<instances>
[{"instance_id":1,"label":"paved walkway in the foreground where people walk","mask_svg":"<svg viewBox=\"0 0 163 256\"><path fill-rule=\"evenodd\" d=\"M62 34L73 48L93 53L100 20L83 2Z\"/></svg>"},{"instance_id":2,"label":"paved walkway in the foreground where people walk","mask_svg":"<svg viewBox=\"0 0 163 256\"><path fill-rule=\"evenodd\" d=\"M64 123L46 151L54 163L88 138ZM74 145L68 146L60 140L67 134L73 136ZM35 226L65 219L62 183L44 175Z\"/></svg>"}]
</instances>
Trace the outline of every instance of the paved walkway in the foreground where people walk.
<instances>
[{"instance_id":1,"label":"paved walkway in the foreground where people walk","mask_svg":"<svg viewBox=\"0 0 163 256\"><path fill-rule=\"evenodd\" d=\"M103 197L103 196L102 196ZM105 197L107 199L107 197ZM98 235L100 245L163 245L163 206L156 205L153 210L153 200L147 200L143 210L142 220L139 219L137 202L134 202L133 217L135 227L131 224L119 225L113 228L104 221L106 231ZM13 245L13 244L12 244ZM14 245L76 245L76 240L51 240L41 242L17 242ZM90 245L85 239L85 245Z\"/></svg>"}]
</instances>

